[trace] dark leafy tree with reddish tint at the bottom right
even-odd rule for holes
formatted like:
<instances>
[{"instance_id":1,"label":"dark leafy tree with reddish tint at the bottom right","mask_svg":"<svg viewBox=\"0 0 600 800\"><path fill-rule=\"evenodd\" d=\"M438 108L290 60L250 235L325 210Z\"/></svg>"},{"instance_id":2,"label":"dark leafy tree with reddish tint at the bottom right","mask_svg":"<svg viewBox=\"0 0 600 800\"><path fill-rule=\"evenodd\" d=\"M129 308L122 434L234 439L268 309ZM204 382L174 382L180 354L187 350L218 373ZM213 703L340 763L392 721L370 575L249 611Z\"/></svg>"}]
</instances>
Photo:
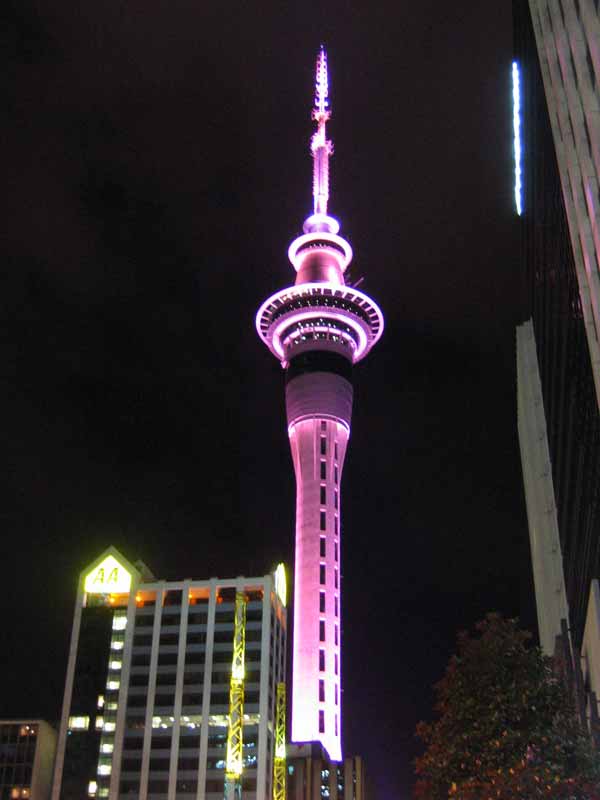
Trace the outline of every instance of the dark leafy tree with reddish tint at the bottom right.
<instances>
[{"instance_id":1,"label":"dark leafy tree with reddish tint at the bottom right","mask_svg":"<svg viewBox=\"0 0 600 800\"><path fill-rule=\"evenodd\" d=\"M458 636L436 685L437 719L420 722L422 800L600 800L600 756L553 661L516 620L488 614Z\"/></svg>"}]
</instances>

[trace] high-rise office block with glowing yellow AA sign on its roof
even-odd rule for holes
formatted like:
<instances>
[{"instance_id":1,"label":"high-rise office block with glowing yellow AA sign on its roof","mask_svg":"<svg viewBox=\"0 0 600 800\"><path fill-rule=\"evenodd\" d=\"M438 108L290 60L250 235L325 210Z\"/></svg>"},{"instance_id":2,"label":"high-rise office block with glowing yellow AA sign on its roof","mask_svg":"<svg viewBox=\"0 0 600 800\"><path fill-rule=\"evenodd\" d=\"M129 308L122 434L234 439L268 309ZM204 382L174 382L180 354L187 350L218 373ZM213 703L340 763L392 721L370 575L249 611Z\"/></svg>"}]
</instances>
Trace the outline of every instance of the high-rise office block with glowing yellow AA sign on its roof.
<instances>
[{"instance_id":1,"label":"high-rise office block with glowing yellow AA sign on its roof","mask_svg":"<svg viewBox=\"0 0 600 800\"><path fill-rule=\"evenodd\" d=\"M161 581L109 548L80 576L53 800L270 797L283 566ZM236 794L237 787L237 794Z\"/></svg>"}]
</instances>

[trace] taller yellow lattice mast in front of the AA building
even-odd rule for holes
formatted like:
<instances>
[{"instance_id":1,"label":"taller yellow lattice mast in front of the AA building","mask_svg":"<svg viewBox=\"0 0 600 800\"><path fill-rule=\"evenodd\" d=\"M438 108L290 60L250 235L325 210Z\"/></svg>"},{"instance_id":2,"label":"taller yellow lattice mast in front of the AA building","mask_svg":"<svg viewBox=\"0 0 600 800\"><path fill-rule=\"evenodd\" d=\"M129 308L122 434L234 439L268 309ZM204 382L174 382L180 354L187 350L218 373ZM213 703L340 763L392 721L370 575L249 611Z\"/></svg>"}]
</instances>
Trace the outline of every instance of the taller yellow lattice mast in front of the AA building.
<instances>
[{"instance_id":1,"label":"taller yellow lattice mast in front of the AA building","mask_svg":"<svg viewBox=\"0 0 600 800\"><path fill-rule=\"evenodd\" d=\"M241 800L244 726L244 657L246 650L246 595L235 594L233 660L229 682L229 717L227 760L225 762L224 800Z\"/></svg>"}]
</instances>

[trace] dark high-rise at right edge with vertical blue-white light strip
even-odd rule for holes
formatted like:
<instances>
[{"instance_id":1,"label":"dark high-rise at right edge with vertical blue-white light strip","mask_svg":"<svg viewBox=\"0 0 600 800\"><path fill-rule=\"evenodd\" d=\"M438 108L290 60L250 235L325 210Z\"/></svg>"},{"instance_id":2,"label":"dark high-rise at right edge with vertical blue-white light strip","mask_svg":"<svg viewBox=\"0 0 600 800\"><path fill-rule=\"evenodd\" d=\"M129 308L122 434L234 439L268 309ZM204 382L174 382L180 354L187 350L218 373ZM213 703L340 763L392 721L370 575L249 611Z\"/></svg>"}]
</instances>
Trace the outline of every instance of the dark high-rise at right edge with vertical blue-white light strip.
<instances>
[{"instance_id":1,"label":"dark high-rise at right edge with vertical blue-white light strip","mask_svg":"<svg viewBox=\"0 0 600 800\"><path fill-rule=\"evenodd\" d=\"M514 0L526 322L519 439L541 644L561 619L600 676L600 16L597 0ZM519 174L520 172L520 174Z\"/></svg>"}]
</instances>

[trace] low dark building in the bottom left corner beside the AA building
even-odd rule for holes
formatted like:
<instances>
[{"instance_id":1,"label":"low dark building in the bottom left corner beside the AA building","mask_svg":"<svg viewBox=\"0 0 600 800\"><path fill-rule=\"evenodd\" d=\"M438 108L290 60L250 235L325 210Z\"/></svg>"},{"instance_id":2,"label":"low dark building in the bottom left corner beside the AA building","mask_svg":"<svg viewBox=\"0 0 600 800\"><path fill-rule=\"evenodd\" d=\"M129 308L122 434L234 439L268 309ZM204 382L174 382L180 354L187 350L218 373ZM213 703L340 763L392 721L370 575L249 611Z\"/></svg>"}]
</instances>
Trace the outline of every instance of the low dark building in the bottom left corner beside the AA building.
<instances>
[{"instance_id":1,"label":"low dark building in the bottom left corner beside the AA building","mask_svg":"<svg viewBox=\"0 0 600 800\"><path fill-rule=\"evenodd\" d=\"M0 800L48 800L56 731L41 719L0 720Z\"/></svg>"}]
</instances>

